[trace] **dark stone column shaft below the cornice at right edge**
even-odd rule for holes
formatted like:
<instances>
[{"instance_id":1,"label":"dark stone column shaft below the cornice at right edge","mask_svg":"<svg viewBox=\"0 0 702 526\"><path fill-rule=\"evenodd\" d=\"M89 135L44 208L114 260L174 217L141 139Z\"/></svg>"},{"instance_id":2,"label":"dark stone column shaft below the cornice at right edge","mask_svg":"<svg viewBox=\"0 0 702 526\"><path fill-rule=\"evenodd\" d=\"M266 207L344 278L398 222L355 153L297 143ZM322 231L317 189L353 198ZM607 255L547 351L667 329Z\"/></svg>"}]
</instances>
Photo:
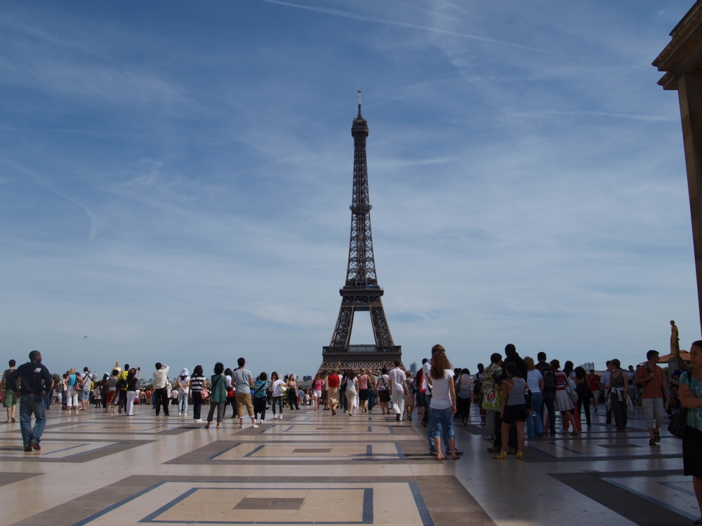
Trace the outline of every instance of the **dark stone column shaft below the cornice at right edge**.
<instances>
[{"instance_id":1,"label":"dark stone column shaft below the cornice at right edge","mask_svg":"<svg viewBox=\"0 0 702 526\"><path fill-rule=\"evenodd\" d=\"M702 202L698 194L698 189L702 188L702 74L686 73L677 79L677 93L680 98L692 243L697 273L697 301L702 332Z\"/></svg>"}]
</instances>

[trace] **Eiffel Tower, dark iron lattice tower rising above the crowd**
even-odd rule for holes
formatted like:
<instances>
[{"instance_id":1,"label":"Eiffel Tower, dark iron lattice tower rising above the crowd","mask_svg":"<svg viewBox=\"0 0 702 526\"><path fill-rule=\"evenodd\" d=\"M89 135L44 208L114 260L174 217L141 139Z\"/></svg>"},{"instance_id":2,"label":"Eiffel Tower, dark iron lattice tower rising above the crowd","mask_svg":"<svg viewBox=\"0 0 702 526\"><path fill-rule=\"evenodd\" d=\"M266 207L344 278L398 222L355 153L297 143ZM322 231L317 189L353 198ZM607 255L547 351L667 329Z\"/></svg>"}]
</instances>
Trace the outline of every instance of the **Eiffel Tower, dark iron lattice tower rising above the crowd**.
<instances>
[{"instance_id":1,"label":"Eiffel Tower, dark iron lattice tower rising above the crowd","mask_svg":"<svg viewBox=\"0 0 702 526\"><path fill-rule=\"evenodd\" d=\"M351 208L351 241L346 284L339 290L341 308L331 343L322 347L322 365L319 371L331 369L380 369L394 367L402 360L402 347L395 345L385 318L383 289L378 286L376 262L373 259L371 237L371 204L368 196L368 166L366 164L366 137L368 121L361 114L361 92L358 92L358 116L351 127L353 135L353 199ZM373 337L376 343L350 345L353 318L357 311L370 311ZM404 365L401 365L404 369Z\"/></svg>"}]
</instances>

